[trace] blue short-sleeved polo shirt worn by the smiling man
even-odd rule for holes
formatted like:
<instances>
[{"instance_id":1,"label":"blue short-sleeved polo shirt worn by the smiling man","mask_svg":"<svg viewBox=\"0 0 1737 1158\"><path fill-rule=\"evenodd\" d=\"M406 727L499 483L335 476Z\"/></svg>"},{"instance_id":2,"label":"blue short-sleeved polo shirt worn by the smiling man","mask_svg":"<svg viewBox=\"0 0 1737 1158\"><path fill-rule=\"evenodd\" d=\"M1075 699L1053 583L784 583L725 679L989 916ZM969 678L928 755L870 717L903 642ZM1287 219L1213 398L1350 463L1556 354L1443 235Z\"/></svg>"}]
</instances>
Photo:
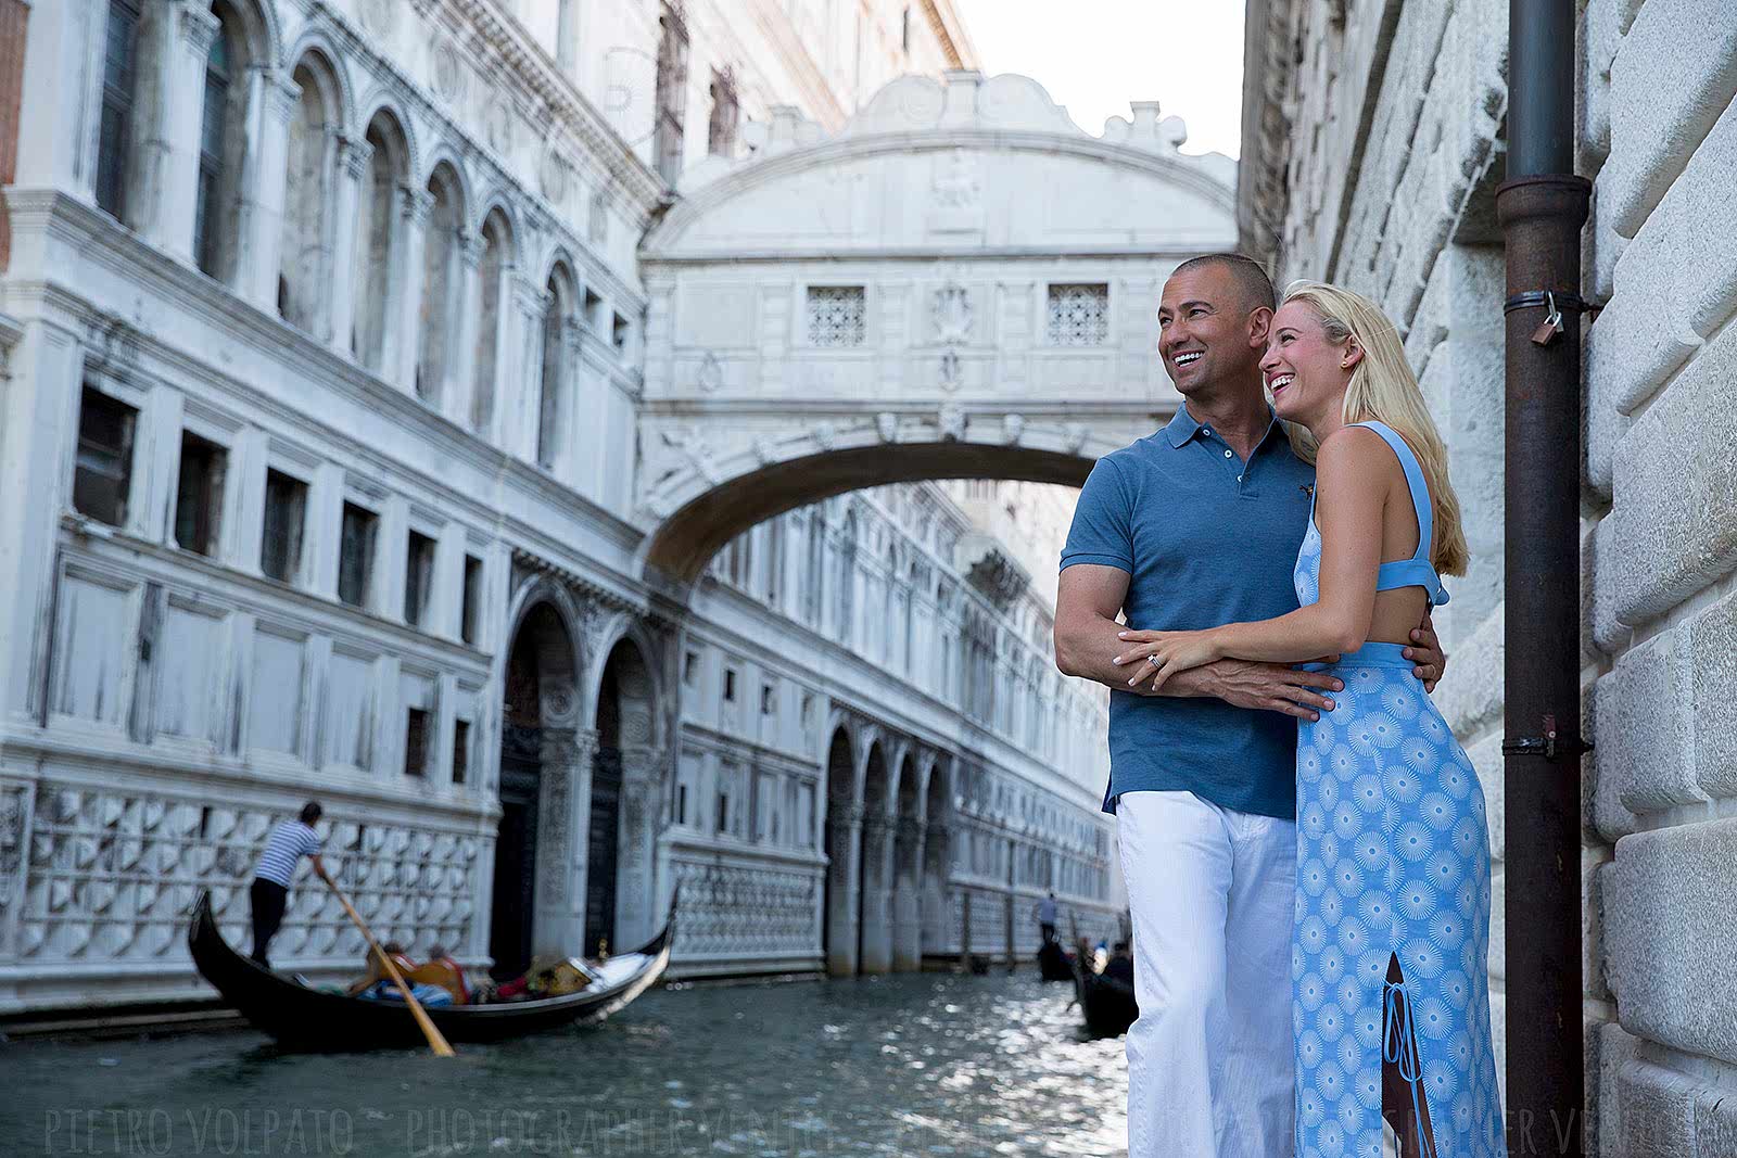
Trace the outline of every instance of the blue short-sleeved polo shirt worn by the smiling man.
<instances>
[{"instance_id":1,"label":"blue short-sleeved polo shirt worn by the smiling man","mask_svg":"<svg viewBox=\"0 0 1737 1158\"><path fill-rule=\"evenodd\" d=\"M1127 571L1127 625L1185 630L1296 611L1291 582L1315 469L1273 418L1247 462L1181 406L1093 467L1061 568ZM1110 788L1186 790L1238 813L1296 818L1298 726L1223 700L1110 691Z\"/></svg>"}]
</instances>

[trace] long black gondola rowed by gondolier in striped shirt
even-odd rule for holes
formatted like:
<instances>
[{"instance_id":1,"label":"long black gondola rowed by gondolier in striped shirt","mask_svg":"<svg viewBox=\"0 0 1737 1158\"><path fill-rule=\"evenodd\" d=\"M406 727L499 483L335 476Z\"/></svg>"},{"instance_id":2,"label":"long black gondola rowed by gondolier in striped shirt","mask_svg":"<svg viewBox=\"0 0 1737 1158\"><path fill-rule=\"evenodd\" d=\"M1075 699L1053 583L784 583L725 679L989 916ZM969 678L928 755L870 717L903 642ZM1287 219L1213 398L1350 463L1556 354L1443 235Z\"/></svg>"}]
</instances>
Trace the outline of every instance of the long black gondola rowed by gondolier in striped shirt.
<instances>
[{"instance_id":1,"label":"long black gondola rowed by gondolier in striped shirt","mask_svg":"<svg viewBox=\"0 0 1737 1158\"><path fill-rule=\"evenodd\" d=\"M429 1007L448 1042L500 1042L578 1021L601 1021L646 991L669 965L676 934L676 901L664 931L632 953L617 953L598 969L589 988L565 997L488 1005ZM426 1045L410 1009L401 1002L365 1000L311 990L236 953L212 915L210 894L200 896L188 925L188 948L200 976L222 993L255 1028L294 1050L360 1050Z\"/></svg>"}]
</instances>

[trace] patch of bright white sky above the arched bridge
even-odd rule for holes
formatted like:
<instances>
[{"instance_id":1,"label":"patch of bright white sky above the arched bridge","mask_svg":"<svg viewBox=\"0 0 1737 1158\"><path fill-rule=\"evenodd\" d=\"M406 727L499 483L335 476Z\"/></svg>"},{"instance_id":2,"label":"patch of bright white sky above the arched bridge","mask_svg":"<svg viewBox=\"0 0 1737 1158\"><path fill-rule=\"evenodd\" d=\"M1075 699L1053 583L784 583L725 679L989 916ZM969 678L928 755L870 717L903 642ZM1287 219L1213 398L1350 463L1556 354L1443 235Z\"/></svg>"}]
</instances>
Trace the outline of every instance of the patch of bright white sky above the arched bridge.
<instances>
[{"instance_id":1,"label":"patch of bright white sky above the arched bridge","mask_svg":"<svg viewBox=\"0 0 1737 1158\"><path fill-rule=\"evenodd\" d=\"M983 71L1025 73L1093 135L1129 101L1188 122L1183 153L1238 155L1242 0L954 0Z\"/></svg>"}]
</instances>

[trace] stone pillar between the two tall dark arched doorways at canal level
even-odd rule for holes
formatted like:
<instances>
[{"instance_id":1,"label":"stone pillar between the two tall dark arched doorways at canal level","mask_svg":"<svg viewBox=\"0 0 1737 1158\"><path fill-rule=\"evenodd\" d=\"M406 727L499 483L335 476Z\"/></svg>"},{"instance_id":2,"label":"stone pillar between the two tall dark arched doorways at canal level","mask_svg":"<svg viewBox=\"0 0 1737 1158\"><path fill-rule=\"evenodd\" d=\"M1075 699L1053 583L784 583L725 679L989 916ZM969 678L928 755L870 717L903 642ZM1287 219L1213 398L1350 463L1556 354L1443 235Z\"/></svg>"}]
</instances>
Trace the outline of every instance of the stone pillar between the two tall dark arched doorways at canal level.
<instances>
[{"instance_id":1,"label":"stone pillar between the two tall dark arched doorways at canal level","mask_svg":"<svg viewBox=\"0 0 1737 1158\"><path fill-rule=\"evenodd\" d=\"M544 712L571 714L571 689L544 689ZM565 705L565 710L561 707ZM532 951L566 957L585 936L585 839L591 804L591 760L598 733L589 727L545 726L542 733L542 799L537 802L537 915Z\"/></svg>"}]
</instances>

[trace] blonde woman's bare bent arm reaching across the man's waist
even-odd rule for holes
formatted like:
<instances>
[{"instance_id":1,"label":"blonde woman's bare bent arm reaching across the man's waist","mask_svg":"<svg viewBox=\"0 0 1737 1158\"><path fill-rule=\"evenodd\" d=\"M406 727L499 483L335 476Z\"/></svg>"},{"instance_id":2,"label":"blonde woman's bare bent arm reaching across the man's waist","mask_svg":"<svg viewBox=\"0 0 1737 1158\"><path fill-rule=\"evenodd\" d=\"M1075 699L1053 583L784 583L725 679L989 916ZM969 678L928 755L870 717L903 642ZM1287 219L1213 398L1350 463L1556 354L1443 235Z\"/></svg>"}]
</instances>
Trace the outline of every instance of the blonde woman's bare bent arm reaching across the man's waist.
<instances>
[{"instance_id":1,"label":"blonde woman's bare bent arm reaching across the man's waist","mask_svg":"<svg viewBox=\"0 0 1737 1158\"><path fill-rule=\"evenodd\" d=\"M1122 632L1124 641L1138 646L1115 663L1139 663L1131 682L1160 688L1176 672L1228 656L1303 663L1362 648L1376 609L1390 462L1393 455L1381 436L1364 427L1344 427L1322 444L1315 465L1320 495L1315 523L1322 538L1317 602L1273 620L1200 632Z\"/></svg>"}]
</instances>

